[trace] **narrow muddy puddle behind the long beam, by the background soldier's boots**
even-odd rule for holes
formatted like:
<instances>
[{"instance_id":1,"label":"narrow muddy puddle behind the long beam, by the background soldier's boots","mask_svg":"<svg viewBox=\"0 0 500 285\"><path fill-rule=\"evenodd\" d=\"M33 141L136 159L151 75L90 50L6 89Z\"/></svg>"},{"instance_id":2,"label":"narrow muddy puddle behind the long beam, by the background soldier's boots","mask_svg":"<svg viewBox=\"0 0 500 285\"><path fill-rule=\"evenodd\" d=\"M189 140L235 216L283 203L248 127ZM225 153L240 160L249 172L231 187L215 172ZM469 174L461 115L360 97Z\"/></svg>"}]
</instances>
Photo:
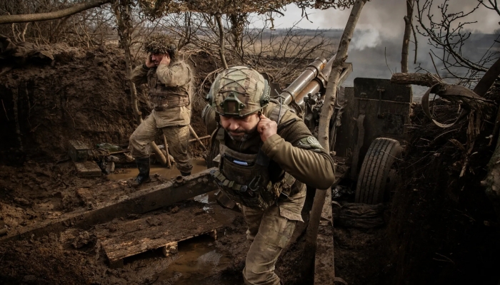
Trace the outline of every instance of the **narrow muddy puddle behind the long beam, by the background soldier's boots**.
<instances>
[{"instance_id":1,"label":"narrow muddy puddle behind the long beam, by the background soldier's boots","mask_svg":"<svg viewBox=\"0 0 500 285\"><path fill-rule=\"evenodd\" d=\"M206 170L206 163L203 159L191 160L193 165L192 174ZM116 169L114 173L108 175L109 180L128 180L129 178L136 177L139 174L137 168L120 168ZM159 174L161 177L166 177L167 179L177 177L181 175L181 172L172 165L171 168L160 167L157 165L151 165L151 170L149 170L149 175Z\"/></svg>"}]
</instances>

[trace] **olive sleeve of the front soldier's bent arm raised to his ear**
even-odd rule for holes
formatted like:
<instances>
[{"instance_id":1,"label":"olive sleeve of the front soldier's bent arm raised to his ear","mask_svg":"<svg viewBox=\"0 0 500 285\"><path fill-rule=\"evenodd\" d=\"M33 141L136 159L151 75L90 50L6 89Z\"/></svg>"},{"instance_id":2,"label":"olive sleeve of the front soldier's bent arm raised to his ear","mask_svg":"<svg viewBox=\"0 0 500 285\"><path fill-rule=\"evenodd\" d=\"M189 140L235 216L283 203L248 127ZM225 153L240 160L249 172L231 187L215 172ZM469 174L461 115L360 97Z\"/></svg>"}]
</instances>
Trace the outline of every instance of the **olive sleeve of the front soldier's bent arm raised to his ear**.
<instances>
[{"instance_id":1,"label":"olive sleeve of the front soldier's bent arm raised to his ear","mask_svg":"<svg viewBox=\"0 0 500 285\"><path fill-rule=\"evenodd\" d=\"M334 160L304 124L297 119L269 137L262 150L300 182L327 189L335 181Z\"/></svg>"}]
</instances>

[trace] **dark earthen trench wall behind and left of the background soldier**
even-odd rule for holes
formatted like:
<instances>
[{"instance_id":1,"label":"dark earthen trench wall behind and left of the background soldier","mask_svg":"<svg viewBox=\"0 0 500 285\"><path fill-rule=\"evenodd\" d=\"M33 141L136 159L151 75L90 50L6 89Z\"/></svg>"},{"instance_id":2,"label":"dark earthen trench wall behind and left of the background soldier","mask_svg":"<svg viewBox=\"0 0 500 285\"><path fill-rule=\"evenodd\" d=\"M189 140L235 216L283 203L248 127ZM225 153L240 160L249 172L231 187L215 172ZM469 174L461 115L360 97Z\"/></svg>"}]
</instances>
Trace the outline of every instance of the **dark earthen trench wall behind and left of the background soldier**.
<instances>
[{"instance_id":1,"label":"dark earthen trench wall behind and left of the background soldier","mask_svg":"<svg viewBox=\"0 0 500 285\"><path fill-rule=\"evenodd\" d=\"M87 51L55 46L45 52L54 60L10 63L11 70L0 73L0 124L4 126L0 163L55 161L65 155L69 140L89 146L126 145L138 123L132 115L123 51L115 46ZM189 63L199 63L196 71L202 69L197 76L212 71L214 63L206 55L190 58ZM139 108L146 116L150 112L146 86L136 88ZM202 136L206 132L198 117L193 115L192 125Z\"/></svg>"}]
</instances>

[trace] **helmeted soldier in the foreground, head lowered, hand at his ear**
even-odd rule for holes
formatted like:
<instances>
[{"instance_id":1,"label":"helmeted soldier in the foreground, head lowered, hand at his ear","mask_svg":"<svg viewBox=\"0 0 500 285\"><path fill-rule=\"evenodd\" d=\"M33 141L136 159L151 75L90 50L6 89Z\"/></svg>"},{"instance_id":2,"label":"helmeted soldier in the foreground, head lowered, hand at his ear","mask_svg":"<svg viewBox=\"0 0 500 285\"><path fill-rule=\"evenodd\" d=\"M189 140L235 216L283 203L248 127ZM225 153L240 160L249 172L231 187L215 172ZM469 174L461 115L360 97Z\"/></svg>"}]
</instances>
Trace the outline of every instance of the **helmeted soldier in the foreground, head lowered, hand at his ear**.
<instances>
[{"instance_id":1,"label":"helmeted soldier in the foreground, head lowered, hand at his ear","mask_svg":"<svg viewBox=\"0 0 500 285\"><path fill-rule=\"evenodd\" d=\"M289 242L306 199L306 185L330 187L334 161L304 121L270 100L269 83L257 71L235 66L223 71L208 99L219 121L219 169L211 175L241 204L253 241L243 270L245 284L280 284L274 265ZM305 184L306 185L305 185Z\"/></svg>"}]
</instances>

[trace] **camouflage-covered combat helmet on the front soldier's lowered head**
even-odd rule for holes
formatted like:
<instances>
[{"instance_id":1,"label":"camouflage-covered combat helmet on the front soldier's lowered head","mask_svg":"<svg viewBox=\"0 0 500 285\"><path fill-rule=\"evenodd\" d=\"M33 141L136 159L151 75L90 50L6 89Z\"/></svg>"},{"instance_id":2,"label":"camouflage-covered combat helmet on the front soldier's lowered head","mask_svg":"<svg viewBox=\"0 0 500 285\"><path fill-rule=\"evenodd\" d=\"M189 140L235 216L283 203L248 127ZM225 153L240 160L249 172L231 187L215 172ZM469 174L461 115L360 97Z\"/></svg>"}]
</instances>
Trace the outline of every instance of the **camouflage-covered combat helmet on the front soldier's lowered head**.
<instances>
[{"instance_id":1,"label":"camouflage-covered combat helmet on the front soldier's lowered head","mask_svg":"<svg viewBox=\"0 0 500 285\"><path fill-rule=\"evenodd\" d=\"M269 83L259 72L233 66L217 76L206 96L216 113L244 117L269 104Z\"/></svg>"}]
</instances>

